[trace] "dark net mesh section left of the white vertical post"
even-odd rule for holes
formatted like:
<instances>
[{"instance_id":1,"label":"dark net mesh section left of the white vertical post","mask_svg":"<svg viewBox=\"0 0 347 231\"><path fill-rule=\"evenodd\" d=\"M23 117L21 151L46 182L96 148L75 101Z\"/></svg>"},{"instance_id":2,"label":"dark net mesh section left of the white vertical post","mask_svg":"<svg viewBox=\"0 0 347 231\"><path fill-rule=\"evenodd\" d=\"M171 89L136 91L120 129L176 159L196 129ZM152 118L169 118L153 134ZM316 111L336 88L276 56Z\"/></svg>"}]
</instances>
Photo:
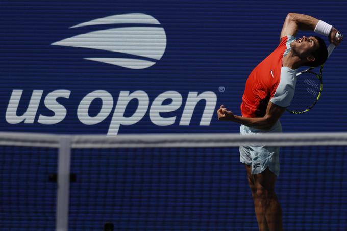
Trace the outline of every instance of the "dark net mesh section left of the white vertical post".
<instances>
[{"instance_id":1,"label":"dark net mesh section left of the white vertical post","mask_svg":"<svg viewBox=\"0 0 347 231\"><path fill-rule=\"evenodd\" d=\"M57 148L0 146L2 230L54 230Z\"/></svg>"}]
</instances>

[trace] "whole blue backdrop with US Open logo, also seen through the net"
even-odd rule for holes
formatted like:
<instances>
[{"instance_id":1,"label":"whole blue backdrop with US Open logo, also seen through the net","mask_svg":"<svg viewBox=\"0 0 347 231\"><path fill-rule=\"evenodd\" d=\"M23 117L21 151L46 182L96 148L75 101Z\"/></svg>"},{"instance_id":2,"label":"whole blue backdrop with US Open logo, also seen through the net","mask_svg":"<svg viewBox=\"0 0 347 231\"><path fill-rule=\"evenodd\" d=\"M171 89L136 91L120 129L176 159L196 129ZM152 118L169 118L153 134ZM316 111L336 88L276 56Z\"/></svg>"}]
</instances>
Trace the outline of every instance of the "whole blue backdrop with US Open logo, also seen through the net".
<instances>
[{"instance_id":1,"label":"whole blue backdrop with US Open logo, also seen through the net","mask_svg":"<svg viewBox=\"0 0 347 231\"><path fill-rule=\"evenodd\" d=\"M246 78L277 47L287 13L346 33L346 10L345 1L1 1L1 131L236 133L239 125L218 122L215 110L224 104L240 114ZM146 23L124 18L134 13ZM108 24L114 15L118 23ZM108 43L103 30L113 28L136 28L145 44L123 47L134 41L127 29ZM159 32L148 35L148 28ZM96 35L52 45L87 33ZM346 131L346 47L327 61L315 108L283 115L285 132ZM142 69L124 67L134 60ZM134 92L138 99L128 97ZM1 150L0 228L53 230L56 184L47 176L56 171L56 150ZM277 192L286 230L345 229L346 172L336 164L345 152L281 152ZM118 230L257 229L237 148L75 150L71 158L71 230L101 230L106 222Z\"/></svg>"}]
</instances>

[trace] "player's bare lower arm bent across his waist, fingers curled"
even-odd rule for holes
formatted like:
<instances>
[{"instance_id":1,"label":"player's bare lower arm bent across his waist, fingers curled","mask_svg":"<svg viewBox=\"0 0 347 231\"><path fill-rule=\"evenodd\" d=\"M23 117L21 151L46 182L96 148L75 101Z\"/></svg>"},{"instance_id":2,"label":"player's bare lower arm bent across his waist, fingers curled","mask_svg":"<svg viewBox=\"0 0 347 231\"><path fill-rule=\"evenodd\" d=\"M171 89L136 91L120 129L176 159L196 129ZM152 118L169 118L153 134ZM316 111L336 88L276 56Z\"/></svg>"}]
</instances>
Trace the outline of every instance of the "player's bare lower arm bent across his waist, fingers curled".
<instances>
[{"instance_id":1,"label":"player's bare lower arm bent across his waist, fingers curled","mask_svg":"<svg viewBox=\"0 0 347 231\"><path fill-rule=\"evenodd\" d=\"M243 124L245 126L255 127L256 129L269 130L275 125L277 120L280 119L285 110L285 107L280 107L276 104L272 104L272 102L269 101L264 117L247 118L234 115L231 111L228 111L224 105L221 105L217 110L217 116L218 120L220 121L231 121Z\"/></svg>"}]
</instances>

